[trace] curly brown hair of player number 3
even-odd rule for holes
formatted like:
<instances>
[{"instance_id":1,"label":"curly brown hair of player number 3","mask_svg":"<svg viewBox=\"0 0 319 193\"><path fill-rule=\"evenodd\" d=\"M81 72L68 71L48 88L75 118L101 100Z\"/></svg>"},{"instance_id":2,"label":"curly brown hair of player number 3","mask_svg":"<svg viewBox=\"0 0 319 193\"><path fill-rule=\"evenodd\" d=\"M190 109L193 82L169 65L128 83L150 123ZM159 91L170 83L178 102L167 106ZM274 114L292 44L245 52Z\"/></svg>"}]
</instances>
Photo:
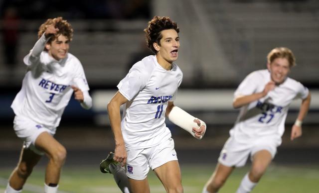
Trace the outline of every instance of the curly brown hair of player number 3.
<instances>
[{"instance_id":1,"label":"curly brown hair of player number 3","mask_svg":"<svg viewBox=\"0 0 319 193\"><path fill-rule=\"evenodd\" d=\"M51 43L53 40L55 40L59 35L64 35L69 39L69 41L72 41L73 37L73 28L70 23L67 22L67 20L63 20L62 17L56 17L53 19L47 19L42 25L39 27L38 31L38 38L40 38L43 33L45 32L46 28L51 25L55 24L55 28L59 29L59 32L55 35L52 36L49 40L48 43Z\"/></svg>"}]
</instances>

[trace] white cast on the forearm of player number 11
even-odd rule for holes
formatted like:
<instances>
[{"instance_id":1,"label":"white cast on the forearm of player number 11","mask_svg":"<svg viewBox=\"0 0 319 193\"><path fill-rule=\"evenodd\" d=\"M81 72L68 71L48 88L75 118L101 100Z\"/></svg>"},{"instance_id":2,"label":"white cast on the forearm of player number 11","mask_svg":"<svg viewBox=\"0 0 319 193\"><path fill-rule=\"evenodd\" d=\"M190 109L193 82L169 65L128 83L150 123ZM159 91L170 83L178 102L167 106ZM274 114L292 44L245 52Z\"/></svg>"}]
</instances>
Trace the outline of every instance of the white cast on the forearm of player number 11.
<instances>
[{"instance_id":1,"label":"white cast on the forearm of player number 11","mask_svg":"<svg viewBox=\"0 0 319 193\"><path fill-rule=\"evenodd\" d=\"M178 106L174 106L171 109L171 111L168 114L168 119L175 125L188 131L193 137L195 137L195 133L192 130L193 127L199 128L200 126L204 125L206 131L206 124L204 121L193 117L192 115L188 114L186 111L179 108ZM194 119L198 119L200 121L200 126L198 126L197 123L194 122ZM201 139L204 136L204 134L202 134L199 139Z\"/></svg>"}]
</instances>

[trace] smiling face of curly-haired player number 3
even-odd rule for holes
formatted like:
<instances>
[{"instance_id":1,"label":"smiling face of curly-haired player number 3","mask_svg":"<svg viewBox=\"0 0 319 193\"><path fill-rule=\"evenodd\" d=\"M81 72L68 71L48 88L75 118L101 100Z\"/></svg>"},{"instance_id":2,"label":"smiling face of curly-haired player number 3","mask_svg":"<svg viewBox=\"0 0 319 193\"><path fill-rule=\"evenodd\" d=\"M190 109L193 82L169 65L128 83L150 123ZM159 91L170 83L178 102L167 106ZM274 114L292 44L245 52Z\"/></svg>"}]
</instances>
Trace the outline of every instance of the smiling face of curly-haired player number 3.
<instances>
[{"instance_id":1,"label":"smiling face of curly-haired player number 3","mask_svg":"<svg viewBox=\"0 0 319 193\"><path fill-rule=\"evenodd\" d=\"M48 50L50 56L55 60L61 60L67 56L69 51L69 39L64 35L59 35L50 44L46 44L45 48Z\"/></svg>"}]
</instances>

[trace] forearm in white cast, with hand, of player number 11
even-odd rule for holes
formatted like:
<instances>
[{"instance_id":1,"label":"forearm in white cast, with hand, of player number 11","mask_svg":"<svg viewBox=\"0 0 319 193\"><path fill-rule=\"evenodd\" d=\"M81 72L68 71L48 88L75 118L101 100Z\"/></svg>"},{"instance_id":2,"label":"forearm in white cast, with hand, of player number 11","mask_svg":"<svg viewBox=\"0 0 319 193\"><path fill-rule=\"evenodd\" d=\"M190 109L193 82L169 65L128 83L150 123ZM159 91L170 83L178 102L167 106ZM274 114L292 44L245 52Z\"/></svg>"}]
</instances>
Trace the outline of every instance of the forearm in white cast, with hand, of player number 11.
<instances>
[{"instance_id":1,"label":"forearm in white cast, with hand, of player number 11","mask_svg":"<svg viewBox=\"0 0 319 193\"><path fill-rule=\"evenodd\" d=\"M168 102L165 116L167 116L172 123L188 131L197 139L201 139L205 134L205 122L193 117L178 106L175 106L173 102Z\"/></svg>"}]
</instances>

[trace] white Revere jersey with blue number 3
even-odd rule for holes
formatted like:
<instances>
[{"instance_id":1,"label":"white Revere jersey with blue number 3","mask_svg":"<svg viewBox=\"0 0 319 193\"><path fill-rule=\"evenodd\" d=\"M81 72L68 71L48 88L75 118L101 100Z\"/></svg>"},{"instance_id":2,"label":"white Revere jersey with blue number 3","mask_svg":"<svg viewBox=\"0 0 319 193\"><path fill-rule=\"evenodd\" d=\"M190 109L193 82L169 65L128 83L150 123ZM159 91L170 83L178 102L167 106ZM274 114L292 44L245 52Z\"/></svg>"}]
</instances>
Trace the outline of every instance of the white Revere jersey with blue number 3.
<instances>
[{"instance_id":1,"label":"white Revere jersey with blue number 3","mask_svg":"<svg viewBox=\"0 0 319 193\"><path fill-rule=\"evenodd\" d=\"M11 108L16 115L28 117L49 128L57 127L72 96L71 86L82 91L89 90L82 64L70 53L59 61L46 51L31 60L30 53L23 59L28 70Z\"/></svg>"}]
</instances>

